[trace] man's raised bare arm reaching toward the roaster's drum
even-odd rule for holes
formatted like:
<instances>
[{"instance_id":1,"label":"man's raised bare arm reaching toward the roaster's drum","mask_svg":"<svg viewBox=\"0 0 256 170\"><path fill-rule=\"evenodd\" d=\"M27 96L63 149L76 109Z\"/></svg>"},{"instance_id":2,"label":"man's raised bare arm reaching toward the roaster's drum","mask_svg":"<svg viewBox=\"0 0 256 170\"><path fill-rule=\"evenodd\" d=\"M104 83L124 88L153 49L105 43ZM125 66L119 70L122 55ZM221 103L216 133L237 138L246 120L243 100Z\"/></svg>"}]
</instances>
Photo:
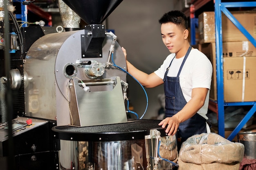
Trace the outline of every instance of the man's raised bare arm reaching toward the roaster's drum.
<instances>
[{"instance_id":1,"label":"man's raised bare arm reaching toward the roaster's drum","mask_svg":"<svg viewBox=\"0 0 256 170\"><path fill-rule=\"evenodd\" d=\"M124 52L124 56L126 57L126 50L124 48L122 48L123 52ZM141 83L141 85L147 87L147 88L152 88L152 87L156 87L158 85L163 84L163 80L162 78L160 78L159 76L157 76L154 72L151 74L146 74L144 72L142 72L141 70L135 68L134 65L132 65L129 61L126 60L126 65L127 65L127 71L133 76L135 77L139 83Z\"/></svg>"}]
</instances>

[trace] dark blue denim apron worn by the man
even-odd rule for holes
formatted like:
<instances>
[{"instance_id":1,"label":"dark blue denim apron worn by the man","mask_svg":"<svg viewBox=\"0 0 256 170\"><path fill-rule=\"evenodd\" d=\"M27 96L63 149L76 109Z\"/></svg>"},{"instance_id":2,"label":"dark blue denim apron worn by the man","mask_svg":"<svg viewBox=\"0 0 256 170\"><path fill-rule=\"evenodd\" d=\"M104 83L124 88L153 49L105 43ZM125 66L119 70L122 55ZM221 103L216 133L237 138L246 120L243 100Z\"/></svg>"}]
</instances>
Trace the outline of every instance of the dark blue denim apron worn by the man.
<instances>
[{"instance_id":1,"label":"dark blue denim apron worn by the man","mask_svg":"<svg viewBox=\"0 0 256 170\"><path fill-rule=\"evenodd\" d=\"M180 111L186 105L186 99L182 94L182 89L180 87L180 72L183 68L183 65L188 58L189 52L191 51L191 46L189 47L184 60L180 66L180 70L177 74L177 77L168 77L168 70L173 62L173 59L166 69L164 74L164 93L165 93L165 117L172 117L178 111ZM195 134L207 133L206 130L206 119L196 113L192 118L180 123L177 135L178 142L184 142L186 139Z\"/></svg>"}]
</instances>

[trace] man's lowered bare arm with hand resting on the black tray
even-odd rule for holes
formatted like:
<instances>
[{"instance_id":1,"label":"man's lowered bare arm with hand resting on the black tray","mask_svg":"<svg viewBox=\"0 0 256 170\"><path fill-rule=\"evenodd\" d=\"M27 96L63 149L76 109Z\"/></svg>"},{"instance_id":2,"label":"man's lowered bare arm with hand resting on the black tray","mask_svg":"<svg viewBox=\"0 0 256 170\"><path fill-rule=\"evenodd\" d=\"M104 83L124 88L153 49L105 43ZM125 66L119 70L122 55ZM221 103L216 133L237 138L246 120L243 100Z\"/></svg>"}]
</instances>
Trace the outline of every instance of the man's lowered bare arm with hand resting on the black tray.
<instances>
[{"instance_id":1,"label":"man's lowered bare arm with hand resting on the black tray","mask_svg":"<svg viewBox=\"0 0 256 170\"><path fill-rule=\"evenodd\" d=\"M194 116L195 113L197 113L197 111L204 105L208 90L209 89L207 88L192 89L191 100L187 102L183 109L174 116L162 120L159 123L159 126L162 125L162 128L165 128L165 126L168 124L165 132L168 133L168 135L175 135L180 123Z\"/></svg>"}]
</instances>

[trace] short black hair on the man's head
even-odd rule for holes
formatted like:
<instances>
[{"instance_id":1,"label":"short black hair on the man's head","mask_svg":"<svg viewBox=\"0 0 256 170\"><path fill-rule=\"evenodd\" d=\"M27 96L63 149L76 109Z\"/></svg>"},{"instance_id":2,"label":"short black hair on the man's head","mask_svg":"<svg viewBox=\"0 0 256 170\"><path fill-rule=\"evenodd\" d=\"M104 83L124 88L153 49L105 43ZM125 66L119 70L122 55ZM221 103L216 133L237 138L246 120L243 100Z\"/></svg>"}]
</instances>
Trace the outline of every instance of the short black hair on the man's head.
<instances>
[{"instance_id":1,"label":"short black hair on the man's head","mask_svg":"<svg viewBox=\"0 0 256 170\"><path fill-rule=\"evenodd\" d=\"M170 11L165 13L159 20L160 24L166 24L168 22L172 22L173 24L176 24L184 29L189 28L188 19L182 11Z\"/></svg>"}]
</instances>

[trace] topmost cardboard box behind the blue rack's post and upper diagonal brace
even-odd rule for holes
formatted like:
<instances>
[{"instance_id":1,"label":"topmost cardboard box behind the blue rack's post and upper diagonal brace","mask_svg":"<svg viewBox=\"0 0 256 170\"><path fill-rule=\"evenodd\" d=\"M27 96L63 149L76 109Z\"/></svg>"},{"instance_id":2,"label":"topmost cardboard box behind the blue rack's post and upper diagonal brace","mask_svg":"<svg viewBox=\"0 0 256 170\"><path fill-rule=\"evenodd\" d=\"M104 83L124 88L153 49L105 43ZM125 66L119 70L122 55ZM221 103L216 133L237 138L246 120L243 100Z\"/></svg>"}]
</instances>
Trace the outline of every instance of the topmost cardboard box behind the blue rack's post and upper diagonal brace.
<instances>
[{"instance_id":1,"label":"topmost cardboard box behind the blue rack's post and upper diagonal brace","mask_svg":"<svg viewBox=\"0 0 256 170\"><path fill-rule=\"evenodd\" d=\"M232 11L232 15L256 39L256 11ZM203 12L198 16L199 43L215 42L215 13ZM241 31L222 13L222 41L248 41Z\"/></svg>"}]
</instances>

